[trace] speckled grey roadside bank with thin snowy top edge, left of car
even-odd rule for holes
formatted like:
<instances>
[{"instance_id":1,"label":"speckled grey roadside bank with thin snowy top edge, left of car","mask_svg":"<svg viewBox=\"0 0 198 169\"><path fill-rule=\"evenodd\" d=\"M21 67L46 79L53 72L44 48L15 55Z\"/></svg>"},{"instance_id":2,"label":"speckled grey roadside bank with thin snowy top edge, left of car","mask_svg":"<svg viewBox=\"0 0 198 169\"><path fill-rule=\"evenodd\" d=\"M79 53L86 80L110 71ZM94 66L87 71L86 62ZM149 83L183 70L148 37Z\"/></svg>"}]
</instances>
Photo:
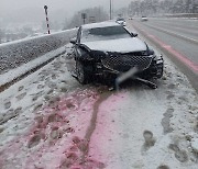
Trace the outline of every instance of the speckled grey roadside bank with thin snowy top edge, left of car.
<instances>
[{"instance_id":1,"label":"speckled grey roadside bank with thin snowy top edge, left of car","mask_svg":"<svg viewBox=\"0 0 198 169\"><path fill-rule=\"evenodd\" d=\"M64 46L75 33L75 30L67 30L51 35L1 44L0 75Z\"/></svg>"}]
</instances>

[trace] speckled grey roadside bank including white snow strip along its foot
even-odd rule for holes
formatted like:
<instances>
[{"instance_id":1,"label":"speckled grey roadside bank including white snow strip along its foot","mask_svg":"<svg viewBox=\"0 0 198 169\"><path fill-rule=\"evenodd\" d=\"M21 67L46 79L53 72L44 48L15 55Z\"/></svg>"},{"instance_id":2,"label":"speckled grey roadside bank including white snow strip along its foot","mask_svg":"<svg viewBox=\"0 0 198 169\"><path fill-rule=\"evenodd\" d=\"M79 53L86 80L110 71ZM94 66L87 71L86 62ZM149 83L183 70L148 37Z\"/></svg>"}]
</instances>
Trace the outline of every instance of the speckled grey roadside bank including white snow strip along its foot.
<instances>
[{"instance_id":1,"label":"speckled grey roadside bank including white snow strip along its foot","mask_svg":"<svg viewBox=\"0 0 198 169\"><path fill-rule=\"evenodd\" d=\"M65 52L65 44L76 34L67 30L51 35L0 45L0 86L12 81Z\"/></svg>"}]
</instances>

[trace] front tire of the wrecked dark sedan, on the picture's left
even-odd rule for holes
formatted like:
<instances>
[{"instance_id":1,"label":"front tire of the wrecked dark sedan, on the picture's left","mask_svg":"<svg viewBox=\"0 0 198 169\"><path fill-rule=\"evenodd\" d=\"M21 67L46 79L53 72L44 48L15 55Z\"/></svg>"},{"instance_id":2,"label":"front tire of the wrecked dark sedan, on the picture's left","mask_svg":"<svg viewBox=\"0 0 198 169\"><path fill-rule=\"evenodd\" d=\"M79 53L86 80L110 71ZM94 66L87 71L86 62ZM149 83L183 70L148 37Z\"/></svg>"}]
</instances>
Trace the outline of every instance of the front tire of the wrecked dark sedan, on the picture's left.
<instances>
[{"instance_id":1,"label":"front tire of the wrecked dark sedan, on the picture's left","mask_svg":"<svg viewBox=\"0 0 198 169\"><path fill-rule=\"evenodd\" d=\"M88 74L85 69L85 65L82 61L78 59L76 60L76 76L79 83L81 84L88 83Z\"/></svg>"}]
</instances>

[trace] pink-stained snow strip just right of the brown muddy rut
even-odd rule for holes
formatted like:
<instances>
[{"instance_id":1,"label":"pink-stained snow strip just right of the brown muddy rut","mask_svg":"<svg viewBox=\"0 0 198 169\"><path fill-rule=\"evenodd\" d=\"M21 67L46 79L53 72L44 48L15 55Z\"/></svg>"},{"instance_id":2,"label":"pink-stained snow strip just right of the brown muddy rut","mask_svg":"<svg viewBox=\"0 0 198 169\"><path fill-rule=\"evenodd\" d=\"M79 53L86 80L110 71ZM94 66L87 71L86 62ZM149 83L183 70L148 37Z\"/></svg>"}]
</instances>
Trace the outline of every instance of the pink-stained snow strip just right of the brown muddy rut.
<instances>
[{"instance_id":1,"label":"pink-stained snow strip just right of the brown muddy rut","mask_svg":"<svg viewBox=\"0 0 198 169\"><path fill-rule=\"evenodd\" d=\"M127 98L128 95L124 92L112 94L99 106L97 125L90 139L88 156L103 161L106 168L108 168L108 164L111 161L111 151L119 151L117 146L120 145L117 145L114 140L119 137L118 133L121 133L122 128L114 121L116 119L118 120L116 111L119 105L124 103ZM122 168L122 166L118 168Z\"/></svg>"}]
</instances>

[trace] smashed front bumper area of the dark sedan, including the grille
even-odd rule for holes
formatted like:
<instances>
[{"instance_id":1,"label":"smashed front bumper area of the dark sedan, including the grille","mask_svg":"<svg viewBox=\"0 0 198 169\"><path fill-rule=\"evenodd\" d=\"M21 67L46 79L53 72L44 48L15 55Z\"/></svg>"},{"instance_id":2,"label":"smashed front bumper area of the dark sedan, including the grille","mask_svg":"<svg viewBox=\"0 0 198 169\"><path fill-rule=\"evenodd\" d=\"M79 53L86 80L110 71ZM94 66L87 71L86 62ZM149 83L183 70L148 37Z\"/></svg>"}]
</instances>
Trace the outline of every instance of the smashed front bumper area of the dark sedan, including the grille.
<instances>
[{"instance_id":1,"label":"smashed front bumper area of the dark sedan, including the grille","mask_svg":"<svg viewBox=\"0 0 198 169\"><path fill-rule=\"evenodd\" d=\"M143 78L161 78L163 76L164 60L163 57L154 59L153 57L107 57L96 63L96 74L106 75L112 74L119 76L123 72L129 71L131 68L138 68L138 76ZM123 61L124 60L124 61Z\"/></svg>"}]
</instances>

